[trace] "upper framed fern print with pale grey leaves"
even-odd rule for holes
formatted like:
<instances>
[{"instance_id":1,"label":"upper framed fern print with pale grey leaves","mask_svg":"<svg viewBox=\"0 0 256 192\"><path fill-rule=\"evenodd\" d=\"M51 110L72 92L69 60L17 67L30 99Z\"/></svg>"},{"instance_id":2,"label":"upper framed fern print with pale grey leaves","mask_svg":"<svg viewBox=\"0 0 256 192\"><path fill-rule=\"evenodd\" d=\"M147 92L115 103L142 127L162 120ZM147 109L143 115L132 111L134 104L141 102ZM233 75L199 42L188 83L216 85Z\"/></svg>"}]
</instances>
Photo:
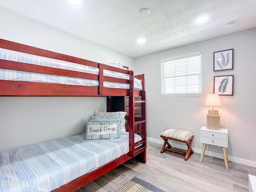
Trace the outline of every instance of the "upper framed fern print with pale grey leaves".
<instances>
[{"instance_id":1,"label":"upper framed fern print with pale grey leaves","mask_svg":"<svg viewBox=\"0 0 256 192\"><path fill-rule=\"evenodd\" d=\"M233 69L234 49L213 52L213 71Z\"/></svg>"}]
</instances>

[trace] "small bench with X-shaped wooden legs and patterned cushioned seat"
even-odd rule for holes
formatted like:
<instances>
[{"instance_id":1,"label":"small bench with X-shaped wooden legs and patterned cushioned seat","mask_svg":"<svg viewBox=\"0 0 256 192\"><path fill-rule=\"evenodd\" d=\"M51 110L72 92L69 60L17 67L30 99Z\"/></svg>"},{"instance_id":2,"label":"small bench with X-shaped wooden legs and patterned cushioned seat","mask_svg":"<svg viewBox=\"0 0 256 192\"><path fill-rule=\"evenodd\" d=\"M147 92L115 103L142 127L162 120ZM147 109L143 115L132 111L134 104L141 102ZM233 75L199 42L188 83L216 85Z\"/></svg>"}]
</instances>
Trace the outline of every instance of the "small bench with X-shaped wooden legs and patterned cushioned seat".
<instances>
[{"instance_id":1,"label":"small bench with X-shaped wooden legs and patterned cushioned seat","mask_svg":"<svg viewBox=\"0 0 256 192\"><path fill-rule=\"evenodd\" d=\"M164 145L161 149L161 153L165 152L166 150L171 152L176 152L178 154L185 155L185 161L190 158L190 156L194 153L191 145L194 139L194 134L190 131L185 130L178 130L178 129L168 129L160 134L160 137L164 140ZM168 140L174 140L178 142L185 143L188 146L188 150L186 153L177 151L172 149L171 145L169 144ZM167 146L166 146L167 144ZM166 146L166 147L165 147Z\"/></svg>"}]
</instances>

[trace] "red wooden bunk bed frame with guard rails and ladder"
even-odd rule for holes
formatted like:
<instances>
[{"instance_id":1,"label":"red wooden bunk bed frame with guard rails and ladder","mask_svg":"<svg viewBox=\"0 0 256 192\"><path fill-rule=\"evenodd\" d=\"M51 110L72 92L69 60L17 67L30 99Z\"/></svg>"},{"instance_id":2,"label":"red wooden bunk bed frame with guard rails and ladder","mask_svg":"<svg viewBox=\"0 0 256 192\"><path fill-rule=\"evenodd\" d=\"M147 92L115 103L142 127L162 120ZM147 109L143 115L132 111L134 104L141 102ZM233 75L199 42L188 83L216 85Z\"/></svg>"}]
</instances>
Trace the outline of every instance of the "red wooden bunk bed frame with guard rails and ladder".
<instances>
[{"instance_id":1,"label":"red wooden bunk bed frame with guard rails and ladder","mask_svg":"<svg viewBox=\"0 0 256 192\"><path fill-rule=\"evenodd\" d=\"M104 166L101 166L100 168L88 174L85 174L84 176L81 176L80 178L77 178L72 182L65 184L64 186L61 186L60 188L57 188L56 190L54 190L54 192L75 191L82 186L92 182L96 178L99 178L110 170L116 168L117 166L123 164L124 162L130 160L131 158L134 158L135 156L141 162L146 163L146 91L144 74L134 76L134 72L132 70L124 70L121 68L100 64L97 62L92 62L73 56L59 54L56 52L51 52L48 50L43 50L40 48L35 48L32 46L27 46L24 44L19 44L3 39L0 39L0 48L14 50L36 56L42 56L46 58L52 58L56 60L62 60L66 62L72 62L76 64L82 64L86 66L91 66L93 68L98 68L99 70L99 74L90 74L1 59L0 68L3 69L98 80L99 86L80 86L41 82L0 80L0 96L106 96L107 98L109 98L110 96L129 96L129 152L105 164ZM112 72L128 74L129 80L104 76L103 70L110 70ZM141 80L143 87L142 90L134 89L134 78ZM130 85L130 88L122 89L104 87L104 81L126 83ZM135 96L141 96L141 100L134 100ZM134 118L134 104L138 102L140 102L142 106L142 115L140 118ZM107 104L109 104L109 102L107 102ZM110 107L108 106L107 109L110 110ZM137 134L142 137L142 140L136 143L134 143L134 126L139 127L140 131Z\"/></svg>"}]
</instances>

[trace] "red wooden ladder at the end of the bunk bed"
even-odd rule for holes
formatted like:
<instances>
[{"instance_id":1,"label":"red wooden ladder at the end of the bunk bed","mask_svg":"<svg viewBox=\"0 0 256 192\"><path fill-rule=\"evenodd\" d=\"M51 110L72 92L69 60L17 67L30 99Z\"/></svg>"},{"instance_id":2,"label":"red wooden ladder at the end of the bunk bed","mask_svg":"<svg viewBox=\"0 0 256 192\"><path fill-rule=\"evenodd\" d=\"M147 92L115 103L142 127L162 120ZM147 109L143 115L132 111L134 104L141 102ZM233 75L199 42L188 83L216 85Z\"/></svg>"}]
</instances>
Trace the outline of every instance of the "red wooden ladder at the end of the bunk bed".
<instances>
[{"instance_id":1,"label":"red wooden ladder at the end of the bunk bed","mask_svg":"<svg viewBox=\"0 0 256 192\"><path fill-rule=\"evenodd\" d=\"M146 153L146 91L145 85L143 85L141 100L135 100L134 97L134 72L130 71L130 93L129 93L129 153L130 156L136 156L141 151ZM144 82L144 76L143 80ZM141 117L135 117L134 108L136 103L141 103ZM135 125L137 126L137 132L142 137L142 141L134 143ZM146 162L146 154L144 154L144 160Z\"/></svg>"}]
</instances>

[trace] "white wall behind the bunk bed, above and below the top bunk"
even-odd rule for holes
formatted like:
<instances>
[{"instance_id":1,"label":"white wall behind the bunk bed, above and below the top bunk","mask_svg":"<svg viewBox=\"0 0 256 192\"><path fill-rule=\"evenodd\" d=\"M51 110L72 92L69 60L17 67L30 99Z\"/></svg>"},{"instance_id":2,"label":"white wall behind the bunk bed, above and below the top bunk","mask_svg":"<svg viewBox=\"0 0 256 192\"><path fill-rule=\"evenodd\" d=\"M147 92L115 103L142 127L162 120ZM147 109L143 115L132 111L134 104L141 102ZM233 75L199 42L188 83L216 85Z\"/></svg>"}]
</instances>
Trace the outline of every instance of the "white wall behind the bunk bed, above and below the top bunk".
<instances>
[{"instance_id":1,"label":"white wall behind the bunk bed, above and below the top bunk","mask_svg":"<svg viewBox=\"0 0 256 192\"><path fill-rule=\"evenodd\" d=\"M134 59L0 7L0 38L94 62ZM84 132L94 110L105 110L106 97L0 97L0 151Z\"/></svg>"}]
</instances>

